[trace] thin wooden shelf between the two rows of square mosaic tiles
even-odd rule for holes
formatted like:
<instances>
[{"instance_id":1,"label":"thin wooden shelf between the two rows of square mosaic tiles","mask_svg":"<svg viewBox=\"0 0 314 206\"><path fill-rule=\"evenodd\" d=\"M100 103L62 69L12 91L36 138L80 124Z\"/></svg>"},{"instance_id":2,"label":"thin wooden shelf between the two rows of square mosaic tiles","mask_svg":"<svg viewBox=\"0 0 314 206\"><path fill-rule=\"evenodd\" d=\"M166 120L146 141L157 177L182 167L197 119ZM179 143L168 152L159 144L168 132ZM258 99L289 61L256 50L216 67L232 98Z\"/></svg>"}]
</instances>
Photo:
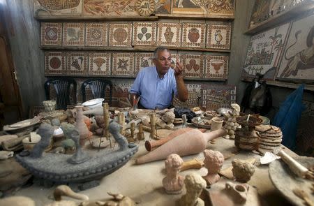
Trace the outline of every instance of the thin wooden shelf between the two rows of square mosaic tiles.
<instances>
[{"instance_id":1,"label":"thin wooden shelf between the two rows of square mosaic tiles","mask_svg":"<svg viewBox=\"0 0 314 206\"><path fill-rule=\"evenodd\" d=\"M62 47L62 46L40 46L41 50L83 50L83 51L146 51L153 52L156 46L134 46L134 47ZM186 50L197 52L226 52L230 50L213 50L207 48L193 48L193 47L167 47L170 50Z\"/></svg>"}]
</instances>

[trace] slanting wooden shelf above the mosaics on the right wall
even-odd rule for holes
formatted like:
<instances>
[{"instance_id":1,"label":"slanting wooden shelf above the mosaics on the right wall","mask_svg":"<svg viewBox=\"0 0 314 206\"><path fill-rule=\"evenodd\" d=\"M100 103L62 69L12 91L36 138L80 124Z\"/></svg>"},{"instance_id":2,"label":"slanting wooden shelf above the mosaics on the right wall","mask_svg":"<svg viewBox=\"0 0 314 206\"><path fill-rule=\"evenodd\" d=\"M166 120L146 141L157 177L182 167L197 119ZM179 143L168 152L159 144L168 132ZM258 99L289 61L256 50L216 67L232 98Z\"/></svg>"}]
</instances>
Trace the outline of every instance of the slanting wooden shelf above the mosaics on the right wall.
<instances>
[{"instance_id":1,"label":"slanting wooden shelf above the mosaics on the right wall","mask_svg":"<svg viewBox=\"0 0 314 206\"><path fill-rule=\"evenodd\" d=\"M259 31L264 31L265 29L275 27L276 25L278 25L282 22L287 22L292 17L295 17L297 15L301 15L304 12L306 12L307 10L311 10L313 8L314 8L314 1L304 0L303 2L299 3L299 5L294 6L290 9L287 9L283 13L269 17L268 20L265 20L264 22L261 22L260 24L253 26L252 28L250 28L246 32L244 32L244 34L255 34Z\"/></svg>"}]
</instances>

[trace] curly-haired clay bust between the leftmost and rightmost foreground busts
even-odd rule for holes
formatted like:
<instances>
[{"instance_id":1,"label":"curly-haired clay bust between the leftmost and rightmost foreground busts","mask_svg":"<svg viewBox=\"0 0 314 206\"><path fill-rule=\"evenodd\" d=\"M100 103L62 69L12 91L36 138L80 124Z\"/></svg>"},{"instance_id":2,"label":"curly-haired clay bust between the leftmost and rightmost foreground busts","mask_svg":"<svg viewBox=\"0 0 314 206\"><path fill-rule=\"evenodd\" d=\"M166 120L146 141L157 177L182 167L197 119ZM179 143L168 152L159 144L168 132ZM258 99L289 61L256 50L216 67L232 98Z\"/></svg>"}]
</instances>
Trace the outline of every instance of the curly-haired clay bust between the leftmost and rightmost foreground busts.
<instances>
[{"instance_id":1,"label":"curly-haired clay bust between the leftmost and rightmost foreground busts","mask_svg":"<svg viewBox=\"0 0 314 206\"><path fill-rule=\"evenodd\" d=\"M206 180L207 185L214 184L218 182L220 176L217 174L221 167L223 166L223 161L225 160L223 154L218 151L205 149L204 150L204 164L207 168L207 175L203 178Z\"/></svg>"}]
</instances>

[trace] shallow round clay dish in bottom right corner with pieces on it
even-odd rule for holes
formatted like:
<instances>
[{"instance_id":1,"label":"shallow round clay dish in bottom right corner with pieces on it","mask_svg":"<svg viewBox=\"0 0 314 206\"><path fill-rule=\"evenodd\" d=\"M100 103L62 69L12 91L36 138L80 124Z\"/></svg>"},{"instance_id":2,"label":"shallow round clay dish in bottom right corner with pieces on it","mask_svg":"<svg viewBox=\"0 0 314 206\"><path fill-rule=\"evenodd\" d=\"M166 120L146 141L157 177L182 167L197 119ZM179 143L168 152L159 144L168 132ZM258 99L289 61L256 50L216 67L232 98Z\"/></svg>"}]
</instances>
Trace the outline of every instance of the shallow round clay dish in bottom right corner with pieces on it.
<instances>
[{"instance_id":1,"label":"shallow round clay dish in bottom right corner with pieces on it","mask_svg":"<svg viewBox=\"0 0 314 206\"><path fill-rule=\"evenodd\" d=\"M311 165L314 165L314 158L308 156L301 156L295 159L304 167L309 168ZM308 193L309 199L314 203L314 196L311 192L311 184L313 183L311 180L303 179L301 177L297 177L290 170L288 165L284 163L282 160L273 161L269 165L269 177L271 182L273 182L274 186L281 194L287 198L292 204L297 206L304 206L304 200L298 198L294 195L293 189L302 189Z\"/></svg>"}]
</instances>

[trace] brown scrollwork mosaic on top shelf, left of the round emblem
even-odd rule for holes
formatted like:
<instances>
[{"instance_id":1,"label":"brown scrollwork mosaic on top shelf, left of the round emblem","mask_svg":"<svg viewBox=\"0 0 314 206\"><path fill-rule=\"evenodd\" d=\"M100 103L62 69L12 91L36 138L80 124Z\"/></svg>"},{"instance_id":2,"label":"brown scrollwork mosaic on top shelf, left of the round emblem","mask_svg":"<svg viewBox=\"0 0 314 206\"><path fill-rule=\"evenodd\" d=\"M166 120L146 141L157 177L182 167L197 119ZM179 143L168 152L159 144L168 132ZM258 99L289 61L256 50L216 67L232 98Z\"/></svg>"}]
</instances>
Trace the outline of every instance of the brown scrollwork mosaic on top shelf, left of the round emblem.
<instances>
[{"instance_id":1,"label":"brown scrollwork mosaic on top shelf, left of the round emblem","mask_svg":"<svg viewBox=\"0 0 314 206\"><path fill-rule=\"evenodd\" d=\"M136 0L84 0L83 15L86 16L128 16L138 15Z\"/></svg>"}]
</instances>

